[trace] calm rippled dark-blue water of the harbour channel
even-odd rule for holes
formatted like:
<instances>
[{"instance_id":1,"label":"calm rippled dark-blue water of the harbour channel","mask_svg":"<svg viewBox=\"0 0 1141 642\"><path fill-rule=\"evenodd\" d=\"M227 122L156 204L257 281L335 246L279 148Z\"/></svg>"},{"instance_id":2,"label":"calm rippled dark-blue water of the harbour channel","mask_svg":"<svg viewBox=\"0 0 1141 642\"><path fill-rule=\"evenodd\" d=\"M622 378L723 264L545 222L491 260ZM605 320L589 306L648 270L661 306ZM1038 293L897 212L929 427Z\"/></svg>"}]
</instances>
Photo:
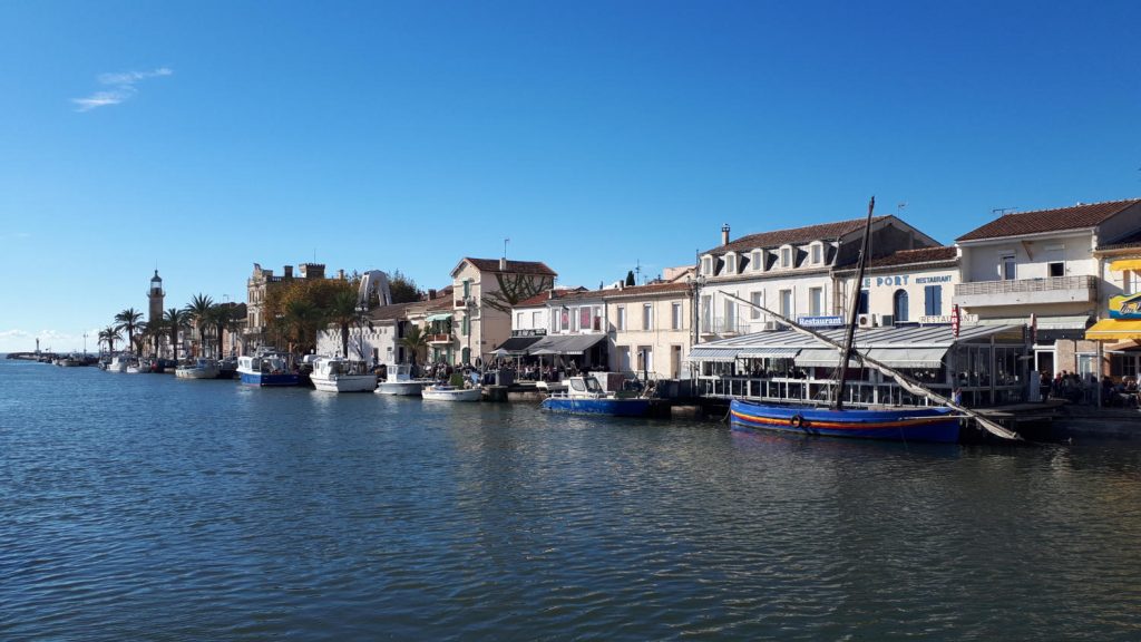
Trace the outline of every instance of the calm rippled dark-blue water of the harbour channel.
<instances>
[{"instance_id":1,"label":"calm rippled dark-blue water of the harbour channel","mask_svg":"<svg viewBox=\"0 0 1141 642\"><path fill-rule=\"evenodd\" d=\"M1136 442L897 447L0 361L0 639L1141 639Z\"/></svg>"}]
</instances>

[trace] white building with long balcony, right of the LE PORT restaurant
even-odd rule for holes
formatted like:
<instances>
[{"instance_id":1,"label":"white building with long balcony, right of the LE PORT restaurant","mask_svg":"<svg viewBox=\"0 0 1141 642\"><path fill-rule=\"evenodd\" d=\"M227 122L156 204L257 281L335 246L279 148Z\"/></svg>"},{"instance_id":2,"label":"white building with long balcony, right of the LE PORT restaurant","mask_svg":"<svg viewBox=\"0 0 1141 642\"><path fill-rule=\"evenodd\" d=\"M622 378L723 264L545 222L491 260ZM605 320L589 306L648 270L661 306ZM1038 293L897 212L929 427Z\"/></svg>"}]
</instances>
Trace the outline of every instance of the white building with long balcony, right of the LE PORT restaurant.
<instances>
[{"instance_id":1,"label":"white building with long balcony, right of the LE PORT restaurant","mask_svg":"<svg viewBox=\"0 0 1141 642\"><path fill-rule=\"evenodd\" d=\"M1104 287L1097 250L1139 228L1141 199L1004 214L956 239L953 300L978 323L1030 327L1039 372L1100 372L1100 344L1086 328L1119 290Z\"/></svg>"}]
</instances>

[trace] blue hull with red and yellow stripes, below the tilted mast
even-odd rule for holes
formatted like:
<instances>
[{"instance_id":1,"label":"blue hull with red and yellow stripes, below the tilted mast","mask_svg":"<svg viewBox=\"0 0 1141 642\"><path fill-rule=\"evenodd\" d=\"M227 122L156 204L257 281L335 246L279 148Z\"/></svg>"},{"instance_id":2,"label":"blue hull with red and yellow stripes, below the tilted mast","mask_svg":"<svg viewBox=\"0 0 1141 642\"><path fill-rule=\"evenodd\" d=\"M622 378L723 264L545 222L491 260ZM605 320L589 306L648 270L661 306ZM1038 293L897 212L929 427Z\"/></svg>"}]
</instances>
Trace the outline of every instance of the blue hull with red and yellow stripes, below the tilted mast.
<instances>
[{"instance_id":1,"label":"blue hull with red and yellow stripes, below the tilted mast","mask_svg":"<svg viewBox=\"0 0 1141 642\"><path fill-rule=\"evenodd\" d=\"M958 441L958 417L949 408L899 410L828 410L795 406L768 406L733 400L734 430L780 431L811 435L889 441Z\"/></svg>"}]
</instances>

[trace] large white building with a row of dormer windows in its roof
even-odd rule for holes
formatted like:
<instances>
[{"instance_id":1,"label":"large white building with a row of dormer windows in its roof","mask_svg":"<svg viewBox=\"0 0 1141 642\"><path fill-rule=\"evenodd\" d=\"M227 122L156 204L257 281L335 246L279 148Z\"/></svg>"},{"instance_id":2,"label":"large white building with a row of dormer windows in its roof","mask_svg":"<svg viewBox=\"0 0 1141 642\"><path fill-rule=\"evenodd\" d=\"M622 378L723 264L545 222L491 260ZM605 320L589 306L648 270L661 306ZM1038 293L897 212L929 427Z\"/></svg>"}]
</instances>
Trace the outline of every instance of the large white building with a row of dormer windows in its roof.
<instances>
[{"instance_id":1,"label":"large white building with a row of dormer windows in its roof","mask_svg":"<svg viewBox=\"0 0 1141 642\"><path fill-rule=\"evenodd\" d=\"M776 330L779 322L741 299L807 323L836 323L844 303L836 297L832 271L855 264L865 219L777 230L729 240L702 252L696 271L697 342ZM896 216L872 220L872 258L899 250L939 246ZM729 296L727 296L729 295Z\"/></svg>"}]
</instances>

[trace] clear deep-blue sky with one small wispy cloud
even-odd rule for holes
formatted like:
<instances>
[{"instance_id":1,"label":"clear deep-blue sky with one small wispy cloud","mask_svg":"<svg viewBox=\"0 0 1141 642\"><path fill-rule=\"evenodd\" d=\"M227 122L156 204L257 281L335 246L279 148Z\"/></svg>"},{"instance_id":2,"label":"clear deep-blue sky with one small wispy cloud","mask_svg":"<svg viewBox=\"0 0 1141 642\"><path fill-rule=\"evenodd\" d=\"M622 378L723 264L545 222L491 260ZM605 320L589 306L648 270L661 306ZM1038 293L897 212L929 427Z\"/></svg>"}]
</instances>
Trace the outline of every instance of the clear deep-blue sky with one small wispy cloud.
<instances>
[{"instance_id":1,"label":"clear deep-blue sky with one small wispy cloud","mask_svg":"<svg viewBox=\"0 0 1141 642\"><path fill-rule=\"evenodd\" d=\"M543 260L1141 195L1136 2L0 2L0 352L253 263ZM88 340L94 348L95 340Z\"/></svg>"}]
</instances>

